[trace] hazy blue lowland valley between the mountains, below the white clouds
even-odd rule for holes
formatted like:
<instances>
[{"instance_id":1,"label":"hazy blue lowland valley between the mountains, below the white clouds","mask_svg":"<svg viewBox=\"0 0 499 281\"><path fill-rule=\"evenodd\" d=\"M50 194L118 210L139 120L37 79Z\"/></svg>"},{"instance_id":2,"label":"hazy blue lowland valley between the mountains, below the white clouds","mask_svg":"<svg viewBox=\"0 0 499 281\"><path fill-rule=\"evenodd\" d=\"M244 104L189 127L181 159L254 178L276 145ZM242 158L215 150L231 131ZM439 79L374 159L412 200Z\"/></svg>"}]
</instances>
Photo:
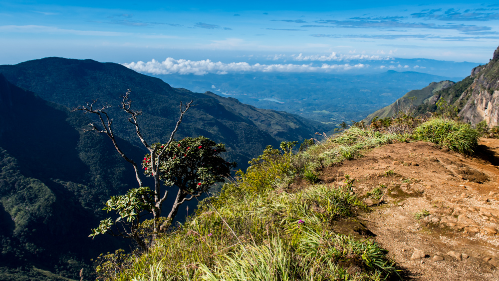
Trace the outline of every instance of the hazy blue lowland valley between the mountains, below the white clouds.
<instances>
[{"instance_id":1,"label":"hazy blue lowland valley between the mountains, below the white clouds","mask_svg":"<svg viewBox=\"0 0 499 281\"><path fill-rule=\"evenodd\" d=\"M431 82L462 79L394 70L359 75L241 73L155 76L177 87L209 90L259 108L282 110L332 125L359 121L408 91L420 89Z\"/></svg>"}]
</instances>

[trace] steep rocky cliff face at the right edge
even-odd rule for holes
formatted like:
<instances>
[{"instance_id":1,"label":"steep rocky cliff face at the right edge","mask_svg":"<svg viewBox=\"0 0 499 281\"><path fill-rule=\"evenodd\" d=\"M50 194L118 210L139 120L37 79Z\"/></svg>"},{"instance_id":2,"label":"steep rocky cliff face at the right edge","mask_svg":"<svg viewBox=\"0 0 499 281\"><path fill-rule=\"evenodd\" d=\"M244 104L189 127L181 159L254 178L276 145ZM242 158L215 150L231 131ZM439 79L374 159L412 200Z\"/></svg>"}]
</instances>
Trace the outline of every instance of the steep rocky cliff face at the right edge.
<instances>
[{"instance_id":1,"label":"steep rocky cliff face at the right edge","mask_svg":"<svg viewBox=\"0 0 499 281\"><path fill-rule=\"evenodd\" d=\"M460 101L465 101L459 116L464 122L476 124L483 120L489 126L499 125L499 47L489 63L473 68L474 78L470 87L463 92Z\"/></svg>"}]
</instances>

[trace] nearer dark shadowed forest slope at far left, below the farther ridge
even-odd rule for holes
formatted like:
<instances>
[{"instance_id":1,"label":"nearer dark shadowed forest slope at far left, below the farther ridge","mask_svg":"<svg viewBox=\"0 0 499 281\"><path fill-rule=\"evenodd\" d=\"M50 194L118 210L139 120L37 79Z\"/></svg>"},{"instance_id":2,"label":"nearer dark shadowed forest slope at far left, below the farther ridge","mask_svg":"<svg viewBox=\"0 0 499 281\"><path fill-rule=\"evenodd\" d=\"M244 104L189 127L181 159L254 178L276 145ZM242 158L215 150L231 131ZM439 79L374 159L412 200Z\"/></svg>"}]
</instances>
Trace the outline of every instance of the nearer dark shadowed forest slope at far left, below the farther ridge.
<instances>
[{"instance_id":1,"label":"nearer dark shadowed forest slope at far left, below the farther ridge","mask_svg":"<svg viewBox=\"0 0 499 281\"><path fill-rule=\"evenodd\" d=\"M87 267L83 261L126 247L116 239L88 238L101 219L102 202L135 183L109 140L83 133L90 121L83 114L36 97L2 75L0 107L1 266L35 266L74 277ZM12 274L8 279L16 280L19 273Z\"/></svg>"}]
</instances>

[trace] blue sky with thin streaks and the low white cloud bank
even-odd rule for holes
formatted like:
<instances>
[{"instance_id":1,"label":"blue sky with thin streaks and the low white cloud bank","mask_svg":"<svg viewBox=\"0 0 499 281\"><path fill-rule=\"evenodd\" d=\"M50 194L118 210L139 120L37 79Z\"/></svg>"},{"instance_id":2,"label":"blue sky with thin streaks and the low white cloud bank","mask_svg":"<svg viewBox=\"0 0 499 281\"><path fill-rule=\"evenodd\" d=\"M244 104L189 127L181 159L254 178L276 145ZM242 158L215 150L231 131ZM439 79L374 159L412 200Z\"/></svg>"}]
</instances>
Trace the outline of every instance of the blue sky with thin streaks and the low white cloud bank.
<instances>
[{"instance_id":1,"label":"blue sky with thin streaks and the low white cloud bank","mask_svg":"<svg viewBox=\"0 0 499 281\"><path fill-rule=\"evenodd\" d=\"M499 4L0 0L0 38L0 64L61 56L150 73L340 71L393 58L484 63L499 45Z\"/></svg>"}]
</instances>

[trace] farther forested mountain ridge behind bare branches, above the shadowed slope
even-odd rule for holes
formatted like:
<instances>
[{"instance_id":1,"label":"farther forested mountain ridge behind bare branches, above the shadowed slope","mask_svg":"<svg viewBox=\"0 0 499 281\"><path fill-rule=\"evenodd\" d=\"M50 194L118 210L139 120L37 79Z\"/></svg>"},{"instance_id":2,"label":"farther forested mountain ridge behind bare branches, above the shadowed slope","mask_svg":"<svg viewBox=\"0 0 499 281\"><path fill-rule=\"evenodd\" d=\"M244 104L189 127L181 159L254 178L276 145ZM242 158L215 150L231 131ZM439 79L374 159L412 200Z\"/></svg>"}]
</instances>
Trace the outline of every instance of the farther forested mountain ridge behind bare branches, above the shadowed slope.
<instances>
[{"instance_id":1,"label":"farther forested mountain ridge behind bare branches, above the shadowed slope","mask_svg":"<svg viewBox=\"0 0 499 281\"><path fill-rule=\"evenodd\" d=\"M165 140L179 115L179 104L191 99L197 104L186 114L177 137L199 136L227 145L230 161L246 165L266 145L283 140L303 140L315 132L327 131L324 125L285 112L264 110L210 92L193 93L170 87L161 79L139 74L116 63L50 57L0 65L0 73L11 83L33 91L41 98L70 108L92 99L115 106L113 115L117 134L138 144L134 127L117 107L120 95L132 90L135 109L144 137Z\"/></svg>"}]
</instances>

